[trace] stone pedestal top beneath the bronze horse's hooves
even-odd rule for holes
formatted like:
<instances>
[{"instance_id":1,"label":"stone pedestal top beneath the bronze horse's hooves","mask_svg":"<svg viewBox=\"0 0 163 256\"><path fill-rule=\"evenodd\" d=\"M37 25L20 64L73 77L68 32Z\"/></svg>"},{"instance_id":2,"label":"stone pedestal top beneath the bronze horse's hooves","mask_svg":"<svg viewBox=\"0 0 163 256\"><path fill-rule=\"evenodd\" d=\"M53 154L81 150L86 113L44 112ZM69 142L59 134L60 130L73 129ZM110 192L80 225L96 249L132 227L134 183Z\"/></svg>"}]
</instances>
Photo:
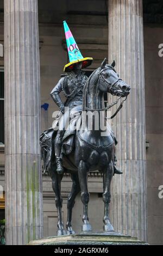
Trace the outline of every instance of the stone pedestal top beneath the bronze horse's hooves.
<instances>
[{"instance_id":1,"label":"stone pedestal top beneath the bronze horse's hooves","mask_svg":"<svg viewBox=\"0 0 163 256\"><path fill-rule=\"evenodd\" d=\"M116 232L82 232L75 235L54 236L32 241L29 245L146 245L135 237Z\"/></svg>"}]
</instances>

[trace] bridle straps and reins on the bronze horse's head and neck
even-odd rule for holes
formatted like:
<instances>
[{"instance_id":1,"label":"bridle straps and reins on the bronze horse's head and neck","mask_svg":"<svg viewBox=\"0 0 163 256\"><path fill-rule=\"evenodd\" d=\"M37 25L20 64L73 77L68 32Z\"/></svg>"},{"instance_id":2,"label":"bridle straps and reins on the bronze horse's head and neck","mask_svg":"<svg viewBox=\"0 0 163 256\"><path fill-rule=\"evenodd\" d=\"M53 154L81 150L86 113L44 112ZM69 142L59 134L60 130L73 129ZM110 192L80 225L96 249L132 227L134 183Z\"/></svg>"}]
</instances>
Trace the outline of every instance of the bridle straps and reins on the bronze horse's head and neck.
<instances>
[{"instance_id":1,"label":"bridle straps and reins on the bronze horse's head and neck","mask_svg":"<svg viewBox=\"0 0 163 256\"><path fill-rule=\"evenodd\" d=\"M109 89L111 89L112 87L114 87L114 85L115 85L117 82L122 81L122 79L119 78L119 79L117 79L115 82L113 82L112 84L111 84L111 83L108 84L108 82L105 80L105 77L104 77L103 74L102 74L103 71L108 70L108 69L111 69L111 70L114 70L114 71L115 71L115 69L114 69L113 67L108 66L107 68L102 69L100 72L97 73L97 75L98 75L98 87L99 87L99 82L100 82L100 80L102 80L102 82L103 82L107 87L109 87ZM116 72L116 71L115 71L115 72ZM87 110L87 111L106 111L106 110L108 110L109 108L111 108L111 107L113 107L114 105L116 105L116 104L118 103L118 101L120 101L121 98L122 98L122 95L121 95L120 93L119 93L118 95L112 93L112 95L120 96L120 97L119 97L116 101L112 102L109 106L107 106L107 107L105 107L105 108L90 109L90 108L86 107L86 110ZM123 107L123 103L124 103L124 101L126 101L126 100L127 100L127 96L126 96L126 98L125 98L123 101L121 101L120 106L118 107L117 111L116 111L110 118L106 118L106 119L112 119L112 118L114 118L114 117L117 115L117 113L120 111L120 109Z\"/></svg>"}]
</instances>

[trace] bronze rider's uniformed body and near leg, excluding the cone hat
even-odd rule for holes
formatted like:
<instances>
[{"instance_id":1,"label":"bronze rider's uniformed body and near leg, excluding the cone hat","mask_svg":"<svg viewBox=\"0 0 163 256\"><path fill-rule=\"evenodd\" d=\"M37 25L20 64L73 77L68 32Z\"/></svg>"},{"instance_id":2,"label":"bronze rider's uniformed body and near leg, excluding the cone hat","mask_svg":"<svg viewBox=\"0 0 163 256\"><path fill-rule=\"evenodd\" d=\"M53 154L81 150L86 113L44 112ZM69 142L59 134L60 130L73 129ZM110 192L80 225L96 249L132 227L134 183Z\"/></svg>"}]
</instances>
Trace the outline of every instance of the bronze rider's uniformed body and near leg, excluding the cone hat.
<instances>
[{"instance_id":1,"label":"bronze rider's uniformed body and near leg, excluding the cone hat","mask_svg":"<svg viewBox=\"0 0 163 256\"><path fill-rule=\"evenodd\" d=\"M69 114L72 108L78 111L82 111L82 101L83 101L83 88L86 83L87 76L84 75L82 71L82 63L76 63L73 65L73 70L65 75L59 80L57 86L51 92L51 96L54 102L60 108L62 112L62 117L59 121L59 129L57 136L55 137L55 158L57 162L57 172L62 173L62 160L61 160L61 148L62 148L62 138L65 133L65 125L69 118ZM67 100L62 103L60 99L60 92L63 92L67 97ZM68 111L65 112L65 107L69 107Z\"/></svg>"}]
</instances>

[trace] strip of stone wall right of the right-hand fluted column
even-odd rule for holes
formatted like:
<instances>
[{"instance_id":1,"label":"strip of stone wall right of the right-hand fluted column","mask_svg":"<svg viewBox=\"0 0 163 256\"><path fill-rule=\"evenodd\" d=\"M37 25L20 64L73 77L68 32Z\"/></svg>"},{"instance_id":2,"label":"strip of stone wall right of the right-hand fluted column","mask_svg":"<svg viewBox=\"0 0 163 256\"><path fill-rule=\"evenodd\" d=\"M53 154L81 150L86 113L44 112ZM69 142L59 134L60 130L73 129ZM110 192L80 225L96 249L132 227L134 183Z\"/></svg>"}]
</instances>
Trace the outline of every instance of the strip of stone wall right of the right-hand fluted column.
<instances>
[{"instance_id":1,"label":"strip of stone wall right of the right-hand fluted column","mask_svg":"<svg viewBox=\"0 0 163 256\"><path fill-rule=\"evenodd\" d=\"M147 149L148 242L163 244L163 57L158 55L163 43L163 28L145 27L145 89Z\"/></svg>"}]
</instances>

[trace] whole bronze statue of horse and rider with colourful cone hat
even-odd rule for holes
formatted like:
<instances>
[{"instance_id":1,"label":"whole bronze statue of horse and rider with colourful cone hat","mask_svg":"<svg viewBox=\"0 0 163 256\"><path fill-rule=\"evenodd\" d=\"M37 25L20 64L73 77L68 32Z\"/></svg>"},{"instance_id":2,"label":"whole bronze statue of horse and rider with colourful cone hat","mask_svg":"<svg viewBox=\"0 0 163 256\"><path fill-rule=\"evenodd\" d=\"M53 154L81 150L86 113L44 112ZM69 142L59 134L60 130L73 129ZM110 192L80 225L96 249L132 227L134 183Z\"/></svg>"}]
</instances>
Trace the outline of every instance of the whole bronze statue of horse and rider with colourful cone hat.
<instances>
[{"instance_id":1,"label":"whole bronze statue of horse and rider with colourful cone hat","mask_svg":"<svg viewBox=\"0 0 163 256\"><path fill-rule=\"evenodd\" d=\"M126 100L130 86L116 73L115 61L108 65L106 59L88 78L83 69L91 65L93 59L83 58L66 21L64 21L64 29L70 63L65 65L65 74L61 75L58 84L51 92L52 99L59 107L60 113L55 118L53 127L43 132L40 137L44 172L47 171L52 178L55 205L58 210L57 234L74 234L71 223L72 208L79 192L81 192L84 211L82 230L92 230L87 214L90 199L87 190L87 175L93 170L98 170L103 174L104 231L113 231L114 228L109 218L110 184L112 176L122 174L122 172L116 167L117 140L108 124L106 110L121 98ZM65 103L61 101L61 92L66 97ZM118 99L105 107L105 93L118 96ZM124 100L111 118L120 111ZM89 113L92 113L90 115L92 117L91 129L90 118L89 115L87 116ZM80 129L76 129L77 124ZM69 173L72 179L72 190L67 200L66 231L61 216L61 180L65 172Z\"/></svg>"}]
</instances>

